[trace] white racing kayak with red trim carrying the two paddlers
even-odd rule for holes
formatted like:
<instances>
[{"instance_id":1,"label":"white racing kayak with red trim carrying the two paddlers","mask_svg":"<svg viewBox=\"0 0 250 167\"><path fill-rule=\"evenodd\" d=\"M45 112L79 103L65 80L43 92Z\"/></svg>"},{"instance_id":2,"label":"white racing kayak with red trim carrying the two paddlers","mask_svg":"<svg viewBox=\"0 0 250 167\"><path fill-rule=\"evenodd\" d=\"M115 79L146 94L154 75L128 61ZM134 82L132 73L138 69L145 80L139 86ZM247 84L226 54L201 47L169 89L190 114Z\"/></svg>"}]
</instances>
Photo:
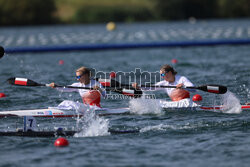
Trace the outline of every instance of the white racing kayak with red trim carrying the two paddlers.
<instances>
[{"instance_id":1,"label":"white racing kayak with red trim carrying the two paddlers","mask_svg":"<svg viewBox=\"0 0 250 167\"><path fill-rule=\"evenodd\" d=\"M220 112L223 106L201 106L190 99L183 99L178 102L160 100L160 106L166 111L216 111ZM250 110L250 105L241 105L243 111ZM63 101L58 107L33 110L0 111L0 117L8 116L34 116L34 117L77 117L83 116L84 112L95 112L97 115L119 115L130 114L130 108L99 108L96 106L86 106L72 101ZM133 112L133 114L135 114Z\"/></svg>"}]
</instances>

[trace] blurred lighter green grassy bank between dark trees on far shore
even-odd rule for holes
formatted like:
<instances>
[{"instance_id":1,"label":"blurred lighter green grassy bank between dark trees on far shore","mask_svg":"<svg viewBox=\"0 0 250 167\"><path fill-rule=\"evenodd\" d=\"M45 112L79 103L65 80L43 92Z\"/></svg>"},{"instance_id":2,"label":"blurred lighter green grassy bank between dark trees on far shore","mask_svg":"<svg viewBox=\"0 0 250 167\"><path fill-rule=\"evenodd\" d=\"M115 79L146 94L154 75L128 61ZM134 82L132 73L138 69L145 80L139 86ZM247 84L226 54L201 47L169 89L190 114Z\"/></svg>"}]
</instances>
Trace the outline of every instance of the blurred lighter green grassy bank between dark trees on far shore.
<instances>
[{"instance_id":1,"label":"blurred lighter green grassy bank between dark trees on far shore","mask_svg":"<svg viewBox=\"0 0 250 167\"><path fill-rule=\"evenodd\" d=\"M99 17L105 17L103 21L106 21L106 17L110 17L113 13L117 15L131 13L132 16L154 10L153 0L55 0L55 3L57 7L55 15L65 23L95 22L94 20L101 19Z\"/></svg>"}]
</instances>

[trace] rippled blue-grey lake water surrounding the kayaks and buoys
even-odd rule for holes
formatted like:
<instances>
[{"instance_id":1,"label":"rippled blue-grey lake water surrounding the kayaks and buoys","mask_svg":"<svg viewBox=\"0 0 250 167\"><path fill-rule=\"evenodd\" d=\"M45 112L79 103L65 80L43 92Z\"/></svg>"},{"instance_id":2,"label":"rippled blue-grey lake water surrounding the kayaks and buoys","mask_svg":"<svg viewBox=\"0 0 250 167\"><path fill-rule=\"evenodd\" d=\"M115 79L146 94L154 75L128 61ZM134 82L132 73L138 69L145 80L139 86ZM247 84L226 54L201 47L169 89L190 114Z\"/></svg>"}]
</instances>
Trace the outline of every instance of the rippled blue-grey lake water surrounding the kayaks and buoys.
<instances>
[{"instance_id":1,"label":"rippled blue-grey lake water surrounding the kayaks and buoys","mask_svg":"<svg viewBox=\"0 0 250 167\"><path fill-rule=\"evenodd\" d=\"M67 44L140 43L200 39L249 39L250 20L118 24L107 32L104 24L78 26L0 28L3 47ZM63 100L81 101L78 93L60 93L46 87L9 85L9 77L24 77L39 83L75 82L80 66L97 71L156 72L163 64L174 65L195 85L228 87L225 96L196 91L202 104L241 104L250 101L250 46L213 46L7 54L0 59L0 111L57 106ZM60 65L59 61L64 64ZM231 92L231 93L230 93ZM194 93L193 93L194 94ZM192 95L193 95L192 94ZM169 99L161 92L156 98ZM235 96L235 97L233 97ZM69 147L56 148L56 138L0 137L0 166L249 166L250 112L236 113L157 111L153 101L103 99L107 108L140 104L144 114L95 117L80 137L68 137ZM38 118L40 129L74 129L86 120ZM21 118L1 119L1 131L21 127ZM77 125L77 122L80 122ZM111 129L141 129L137 134L110 135Z\"/></svg>"}]
</instances>

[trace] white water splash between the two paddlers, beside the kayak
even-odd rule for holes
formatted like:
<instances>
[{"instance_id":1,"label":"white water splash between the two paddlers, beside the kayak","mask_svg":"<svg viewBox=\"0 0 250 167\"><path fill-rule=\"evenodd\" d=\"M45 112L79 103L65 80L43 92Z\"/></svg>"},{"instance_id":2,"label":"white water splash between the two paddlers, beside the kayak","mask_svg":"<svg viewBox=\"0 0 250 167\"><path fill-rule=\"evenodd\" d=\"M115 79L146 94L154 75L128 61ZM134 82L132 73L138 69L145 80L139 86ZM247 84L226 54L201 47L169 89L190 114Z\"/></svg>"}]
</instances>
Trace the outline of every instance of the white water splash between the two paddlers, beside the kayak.
<instances>
[{"instance_id":1,"label":"white water splash between the two paddlers, beside the kayak","mask_svg":"<svg viewBox=\"0 0 250 167\"><path fill-rule=\"evenodd\" d=\"M129 101L131 113L135 114L163 114L160 101L156 99L132 99Z\"/></svg>"}]
</instances>

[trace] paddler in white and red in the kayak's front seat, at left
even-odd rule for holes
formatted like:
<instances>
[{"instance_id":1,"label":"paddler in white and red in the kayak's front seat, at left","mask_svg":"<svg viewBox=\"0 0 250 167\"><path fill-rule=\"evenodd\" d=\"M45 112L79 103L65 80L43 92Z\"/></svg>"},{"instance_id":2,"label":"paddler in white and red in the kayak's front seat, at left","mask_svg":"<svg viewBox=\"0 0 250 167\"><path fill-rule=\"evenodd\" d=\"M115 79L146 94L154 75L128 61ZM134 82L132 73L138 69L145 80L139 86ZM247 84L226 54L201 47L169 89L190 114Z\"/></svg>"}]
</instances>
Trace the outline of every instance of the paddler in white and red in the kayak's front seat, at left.
<instances>
[{"instance_id":1,"label":"paddler in white and red in the kayak's front seat, at left","mask_svg":"<svg viewBox=\"0 0 250 167\"><path fill-rule=\"evenodd\" d=\"M78 91L80 96L82 97L82 101L84 104L88 104L91 106L101 107L101 96L106 96L106 91L101 85L100 82L91 78L91 71L87 67L80 67L76 70L76 79L79 81L77 83L73 83L70 86L74 87L88 87L93 88L93 90L89 89L71 89L71 88L58 88L58 90L63 92L74 92ZM55 83L50 83L50 87L55 88Z\"/></svg>"}]
</instances>

